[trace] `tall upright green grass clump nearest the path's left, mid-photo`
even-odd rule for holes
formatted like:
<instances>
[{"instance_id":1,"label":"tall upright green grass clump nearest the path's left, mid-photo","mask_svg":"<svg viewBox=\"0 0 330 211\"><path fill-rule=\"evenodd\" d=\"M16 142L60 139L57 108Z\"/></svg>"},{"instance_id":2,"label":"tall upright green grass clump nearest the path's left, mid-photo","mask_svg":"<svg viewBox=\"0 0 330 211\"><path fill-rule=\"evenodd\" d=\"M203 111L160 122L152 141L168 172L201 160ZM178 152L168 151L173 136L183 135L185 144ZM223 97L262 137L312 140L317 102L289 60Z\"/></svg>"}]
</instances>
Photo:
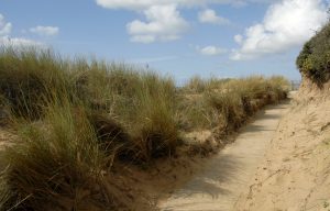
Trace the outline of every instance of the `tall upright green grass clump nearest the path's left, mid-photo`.
<instances>
[{"instance_id":1,"label":"tall upright green grass clump nearest the path's left, mid-photo","mask_svg":"<svg viewBox=\"0 0 330 211\"><path fill-rule=\"evenodd\" d=\"M172 80L146 76L138 89L138 112L133 116L132 135L143 159L175 154L178 127L175 122L175 87Z\"/></svg>"}]
</instances>

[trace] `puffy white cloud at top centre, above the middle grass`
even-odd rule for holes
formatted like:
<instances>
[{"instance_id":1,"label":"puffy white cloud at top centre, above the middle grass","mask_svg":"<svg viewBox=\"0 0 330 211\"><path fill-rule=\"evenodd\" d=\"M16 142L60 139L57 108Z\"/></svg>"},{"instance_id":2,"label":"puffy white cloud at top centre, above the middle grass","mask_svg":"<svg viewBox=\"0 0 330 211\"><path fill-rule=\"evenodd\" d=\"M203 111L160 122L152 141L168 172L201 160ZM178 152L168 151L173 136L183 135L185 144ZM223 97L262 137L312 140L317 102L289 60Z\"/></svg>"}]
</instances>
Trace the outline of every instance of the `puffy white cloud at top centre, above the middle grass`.
<instances>
[{"instance_id":1,"label":"puffy white cloud at top centre, above the middle grass","mask_svg":"<svg viewBox=\"0 0 330 211\"><path fill-rule=\"evenodd\" d=\"M177 40L189 25L180 16L175 4L153 5L143 13L146 22L134 20L127 24L132 42L152 43Z\"/></svg>"}]
</instances>

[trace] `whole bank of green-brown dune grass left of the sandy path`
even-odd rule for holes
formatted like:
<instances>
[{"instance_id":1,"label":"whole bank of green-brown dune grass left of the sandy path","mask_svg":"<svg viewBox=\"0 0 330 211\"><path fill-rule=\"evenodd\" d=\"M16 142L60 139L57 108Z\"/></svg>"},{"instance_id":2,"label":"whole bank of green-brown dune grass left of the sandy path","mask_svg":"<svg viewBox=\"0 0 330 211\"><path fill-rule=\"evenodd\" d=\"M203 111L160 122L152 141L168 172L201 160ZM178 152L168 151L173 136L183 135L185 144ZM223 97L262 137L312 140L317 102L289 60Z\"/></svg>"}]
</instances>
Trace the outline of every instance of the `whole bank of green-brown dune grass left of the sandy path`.
<instances>
[{"instance_id":1,"label":"whole bank of green-brown dune grass left of the sandy path","mask_svg":"<svg viewBox=\"0 0 330 211\"><path fill-rule=\"evenodd\" d=\"M285 99L288 87L283 77L257 76L195 77L177 88L169 77L124 64L1 48L0 123L18 136L1 160L8 167L0 175L0 210L124 203L102 188L113 165L145 167L180 156L177 149L189 145L184 134L227 135Z\"/></svg>"}]
</instances>

